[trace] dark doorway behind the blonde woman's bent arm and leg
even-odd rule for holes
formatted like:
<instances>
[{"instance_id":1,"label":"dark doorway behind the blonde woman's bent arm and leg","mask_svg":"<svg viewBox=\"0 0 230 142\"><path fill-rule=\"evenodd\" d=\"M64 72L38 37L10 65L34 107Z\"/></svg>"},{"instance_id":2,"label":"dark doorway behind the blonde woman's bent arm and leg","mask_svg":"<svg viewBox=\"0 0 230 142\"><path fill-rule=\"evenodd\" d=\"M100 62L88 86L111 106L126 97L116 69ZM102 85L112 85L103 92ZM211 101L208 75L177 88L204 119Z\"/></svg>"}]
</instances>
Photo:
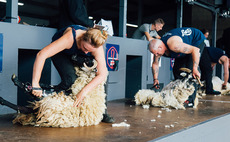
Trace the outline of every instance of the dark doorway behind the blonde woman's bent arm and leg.
<instances>
[{"instance_id":1,"label":"dark doorway behind the blonde woman's bent arm and leg","mask_svg":"<svg viewBox=\"0 0 230 142\"><path fill-rule=\"evenodd\" d=\"M19 49L18 50L18 78L22 82L32 82L33 64L39 50ZM51 59L47 59L43 68L40 83L50 84L51 80ZM28 101L34 98L18 88L17 104L28 105Z\"/></svg>"}]
</instances>

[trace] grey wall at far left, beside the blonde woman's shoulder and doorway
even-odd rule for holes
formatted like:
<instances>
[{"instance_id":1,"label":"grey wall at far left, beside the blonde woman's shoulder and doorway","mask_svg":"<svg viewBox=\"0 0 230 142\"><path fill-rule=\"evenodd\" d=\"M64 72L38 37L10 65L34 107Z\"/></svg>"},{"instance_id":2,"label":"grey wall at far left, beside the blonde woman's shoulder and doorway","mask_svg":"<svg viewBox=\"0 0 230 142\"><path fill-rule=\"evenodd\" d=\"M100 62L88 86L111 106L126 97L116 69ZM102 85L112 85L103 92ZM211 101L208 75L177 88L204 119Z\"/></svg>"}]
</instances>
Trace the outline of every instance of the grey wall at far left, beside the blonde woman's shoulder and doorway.
<instances>
[{"instance_id":1,"label":"grey wall at far left, beside the blonde woman's shoulder and doorway","mask_svg":"<svg viewBox=\"0 0 230 142\"><path fill-rule=\"evenodd\" d=\"M3 69L0 73L0 96L17 103L17 87L11 81L18 74L18 49L41 49L51 42L56 29L0 22L3 34ZM52 71L55 72L55 71ZM0 114L15 112L0 106Z\"/></svg>"}]
</instances>

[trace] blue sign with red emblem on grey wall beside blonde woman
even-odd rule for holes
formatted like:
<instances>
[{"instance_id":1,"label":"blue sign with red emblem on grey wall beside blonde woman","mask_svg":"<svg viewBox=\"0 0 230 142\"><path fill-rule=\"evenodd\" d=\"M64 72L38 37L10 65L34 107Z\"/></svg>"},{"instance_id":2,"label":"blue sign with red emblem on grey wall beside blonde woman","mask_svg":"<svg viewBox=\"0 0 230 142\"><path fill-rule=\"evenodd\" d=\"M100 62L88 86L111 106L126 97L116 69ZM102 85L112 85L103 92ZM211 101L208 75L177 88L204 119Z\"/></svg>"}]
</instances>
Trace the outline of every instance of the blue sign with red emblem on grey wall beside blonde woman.
<instances>
[{"instance_id":1,"label":"blue sign with red emblem on grey wall beside blonde woman","mask_svg":"<svg viewBox=\"0 0 230 142\"><path fill-rule=\"evenodd\" d=\"M119 45L106 44L106 66L108 71L118 70Z\"/></svg>"}]
</instances>

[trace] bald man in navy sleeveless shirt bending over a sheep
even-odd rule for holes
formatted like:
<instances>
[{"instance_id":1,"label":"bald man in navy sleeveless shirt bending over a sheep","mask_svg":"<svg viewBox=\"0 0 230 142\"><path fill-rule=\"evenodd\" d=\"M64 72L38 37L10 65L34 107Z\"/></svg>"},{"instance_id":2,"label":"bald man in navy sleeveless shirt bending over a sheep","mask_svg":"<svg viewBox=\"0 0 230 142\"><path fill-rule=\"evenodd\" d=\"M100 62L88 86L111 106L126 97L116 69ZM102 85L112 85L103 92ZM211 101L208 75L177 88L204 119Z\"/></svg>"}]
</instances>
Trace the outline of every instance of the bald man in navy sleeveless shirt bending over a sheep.
<instances>
[{"instance_id":1,"label":"bald man in navy sleeveless shirt bending over a sheep","mask_svg":"<svg viewBox=\"0 0 230 142\"><path fill-rule=\"evenodd\" d=\"M161 40L153 39L149 43L149 50L154 54L152 70L154 85L159 84L159 59L161 56L175 58L173 74L175 79L181 78L179 69L186 67L192 70L194 78L200 78L198 65L200 63L200 55L205 47L203 33L195 28L184 27L176 28L162 36ZM203 62L201 60L201 62ZM208 69L204 64L202 70ZM209 90L209 94L220 94L220 92ZM195 94L192 101L195 99Z\"/></svg>"}]
</instances>

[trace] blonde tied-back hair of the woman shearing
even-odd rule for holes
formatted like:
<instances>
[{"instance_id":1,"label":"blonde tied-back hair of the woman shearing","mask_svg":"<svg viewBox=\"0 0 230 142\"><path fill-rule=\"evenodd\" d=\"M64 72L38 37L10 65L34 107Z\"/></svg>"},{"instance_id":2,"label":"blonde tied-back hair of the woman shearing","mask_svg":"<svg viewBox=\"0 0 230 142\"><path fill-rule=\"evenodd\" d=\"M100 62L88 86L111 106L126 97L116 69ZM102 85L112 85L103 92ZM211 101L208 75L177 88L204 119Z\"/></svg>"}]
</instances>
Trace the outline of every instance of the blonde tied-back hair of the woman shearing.
<instances>
[{"instance_id":1,"label":"blonde tied-back hair of the woman shearing","mask_svg":"<svg viewBox=\"0 0 230 142\"><path fill-rule=\"evenodd\" d=\"M89 42L94 47L99 47L103 45L108 37L108 33L104 30L99 30L96 28L89 28L86 33L83 34L80 40Z\"/></svg>"}]
</instances>

